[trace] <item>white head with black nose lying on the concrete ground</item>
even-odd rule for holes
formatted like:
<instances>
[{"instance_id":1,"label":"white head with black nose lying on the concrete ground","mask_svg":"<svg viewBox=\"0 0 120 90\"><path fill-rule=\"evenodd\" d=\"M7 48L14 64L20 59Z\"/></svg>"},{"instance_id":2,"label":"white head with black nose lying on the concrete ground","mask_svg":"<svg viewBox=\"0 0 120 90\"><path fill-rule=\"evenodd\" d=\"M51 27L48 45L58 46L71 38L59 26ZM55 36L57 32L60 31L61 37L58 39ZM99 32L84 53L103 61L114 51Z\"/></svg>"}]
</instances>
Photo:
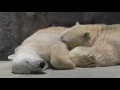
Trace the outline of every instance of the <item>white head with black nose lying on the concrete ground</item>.
<instances>
[{"instance_id":1,"label":"white head with black nose lying on the concrete ground","mask_svg":"<svg viewBox=\"0 0 120 90\"><path fill-rule=\"evenodd\" d=\"M32 51L24 51L17 55L10 55L8 59L12 59L12 72L15 74L41 73L47 68L45 60L41 59Z\"/></svg>"}]
</instances>

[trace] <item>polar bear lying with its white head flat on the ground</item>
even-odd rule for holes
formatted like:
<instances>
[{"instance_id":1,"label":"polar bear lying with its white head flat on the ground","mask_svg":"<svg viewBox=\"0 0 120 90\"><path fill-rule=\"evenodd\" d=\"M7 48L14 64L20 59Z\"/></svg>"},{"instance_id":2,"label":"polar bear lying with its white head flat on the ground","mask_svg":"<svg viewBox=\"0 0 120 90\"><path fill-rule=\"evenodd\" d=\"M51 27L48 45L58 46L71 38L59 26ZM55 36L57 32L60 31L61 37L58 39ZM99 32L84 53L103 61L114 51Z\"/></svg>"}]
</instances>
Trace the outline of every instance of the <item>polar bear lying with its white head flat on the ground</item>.
<instances>
[{"instance_id":1,"label":"polar bear lying with its white head flat on the ground","mask_svg":"<svg viewBox=\"0 0 120 90\"><path fill-rule=\"evenodd\" d=\"M12 60L12 72L37 73L50 67L74 69L75 64L70 60L69 50L60 39L60 35L67 29L48 27L25 39L15 49L15 54L8 56Z\"/></svg>"}]
</instances>

